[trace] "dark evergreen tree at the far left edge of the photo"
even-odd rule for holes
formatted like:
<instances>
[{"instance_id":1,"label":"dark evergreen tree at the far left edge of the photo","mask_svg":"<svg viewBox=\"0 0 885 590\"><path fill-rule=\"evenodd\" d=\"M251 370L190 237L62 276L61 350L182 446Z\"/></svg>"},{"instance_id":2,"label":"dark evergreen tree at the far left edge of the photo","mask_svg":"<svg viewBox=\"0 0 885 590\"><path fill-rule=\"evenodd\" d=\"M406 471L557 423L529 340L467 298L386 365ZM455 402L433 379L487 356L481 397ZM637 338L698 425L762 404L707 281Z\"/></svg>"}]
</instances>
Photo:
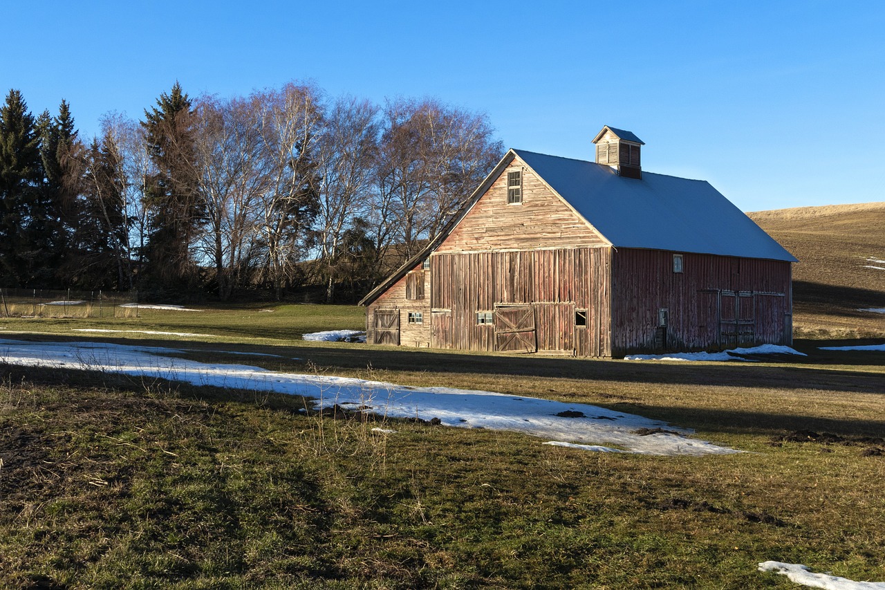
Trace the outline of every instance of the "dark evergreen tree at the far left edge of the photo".
<instances>
[{"instance_id":1,"label":"dark evergreen tree at the far left edge of the photo","mask_svg":"<svg viewBox=\"0 0 885 590\"><path fill-rule=\"evenodd\" d=\"M19 90L0 108L0 285L35 285L44 224L40 135Z\"/></svg>"}]
</instances>

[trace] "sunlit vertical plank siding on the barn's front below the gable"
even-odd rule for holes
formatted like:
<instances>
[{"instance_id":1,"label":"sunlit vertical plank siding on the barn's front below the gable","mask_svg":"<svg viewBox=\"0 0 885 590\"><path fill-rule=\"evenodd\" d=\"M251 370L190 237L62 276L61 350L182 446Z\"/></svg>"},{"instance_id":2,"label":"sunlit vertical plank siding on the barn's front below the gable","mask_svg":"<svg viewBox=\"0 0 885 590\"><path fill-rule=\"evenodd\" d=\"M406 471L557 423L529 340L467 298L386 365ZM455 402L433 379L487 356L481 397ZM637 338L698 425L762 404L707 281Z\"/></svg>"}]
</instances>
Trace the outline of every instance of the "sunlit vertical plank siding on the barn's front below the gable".
<instances>
[{"instance_id":1,"label":"sunlit vertical plank siding on the barn's front below the gable","mask_svg":"<svg viewBox=\"0 0 885 590\"><path fill-rule=\"evenodd\" d=\"M444 323L435 326L431 345L496 350L504 340L496 338L495 323L477 323L477 312L531 305L538 350L609 356L610 260L610 248L437 251L430 258L430 304L434 322ZM586 326L575 326L578 309L587 310ZM521 348L526 337L517 340L506 342Z\"/></svg>"}]
</instances>

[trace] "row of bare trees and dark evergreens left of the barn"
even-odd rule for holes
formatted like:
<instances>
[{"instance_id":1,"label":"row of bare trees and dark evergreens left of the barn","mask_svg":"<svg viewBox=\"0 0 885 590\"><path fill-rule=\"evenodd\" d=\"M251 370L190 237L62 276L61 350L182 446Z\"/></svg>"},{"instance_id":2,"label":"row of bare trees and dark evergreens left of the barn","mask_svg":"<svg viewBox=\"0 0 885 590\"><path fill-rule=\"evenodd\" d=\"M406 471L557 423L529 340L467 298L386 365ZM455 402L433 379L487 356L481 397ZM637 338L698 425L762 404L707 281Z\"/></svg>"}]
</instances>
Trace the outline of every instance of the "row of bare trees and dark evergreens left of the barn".
<instances>
[{"instance_id":1,"label":"row of bare trees and dark evergreens left of the barn","mask_svg":"<svg viewBox=\"0 0 885 590\"><path fill-rule=\"evenodd\" d=\"M483 114L384 105L290 82L191 98L84 142L63 100L0 108L0 286L138 289L154 299L322 285L365 294L419 251L500 159Z\"/></svg>"}]
</instances>

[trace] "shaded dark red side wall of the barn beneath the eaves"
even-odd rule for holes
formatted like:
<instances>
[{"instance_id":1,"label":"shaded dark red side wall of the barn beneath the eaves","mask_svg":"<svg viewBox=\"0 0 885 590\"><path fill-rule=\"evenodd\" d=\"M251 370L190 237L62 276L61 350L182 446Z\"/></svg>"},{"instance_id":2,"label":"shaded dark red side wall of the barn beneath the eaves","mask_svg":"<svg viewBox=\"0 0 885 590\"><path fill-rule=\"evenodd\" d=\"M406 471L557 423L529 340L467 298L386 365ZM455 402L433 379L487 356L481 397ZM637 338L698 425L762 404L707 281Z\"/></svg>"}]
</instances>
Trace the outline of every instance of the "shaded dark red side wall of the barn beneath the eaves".
<instances>
[{"instance_id":1,"label":"shaded dark red side wall of the barn beneath the eaves","mask_svg":"<svg viewBox=\"0 0 885 590\"><path fill-rule=\"evenodd\" d=\"M622 248L612 254L612 353L792 343L789 262ZM659 311L667 325L659 330Z\"/></svg>"}]
</instances>

